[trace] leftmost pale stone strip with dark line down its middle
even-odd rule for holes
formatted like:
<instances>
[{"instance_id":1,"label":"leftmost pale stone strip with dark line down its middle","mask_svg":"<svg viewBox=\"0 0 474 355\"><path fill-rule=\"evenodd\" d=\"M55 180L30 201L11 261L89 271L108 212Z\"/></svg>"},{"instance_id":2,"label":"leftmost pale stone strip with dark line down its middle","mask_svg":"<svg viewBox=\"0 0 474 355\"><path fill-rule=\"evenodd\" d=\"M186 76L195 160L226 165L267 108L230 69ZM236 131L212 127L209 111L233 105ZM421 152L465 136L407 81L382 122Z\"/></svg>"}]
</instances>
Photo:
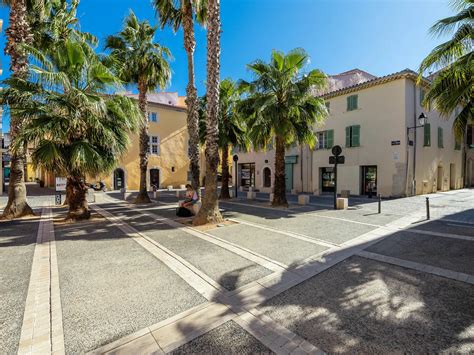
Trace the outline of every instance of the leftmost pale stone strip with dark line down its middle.
<instances>
[{"instance_id":1,"label":"leftmost pale stone strip with dark line down its middle","mask_svg":"<svg viewBox=\"0 0 474 355\"><path fill-rule=\"evenodd\" d=\"M18 354L64 353L54 225L43 208L33 255Z\"/></svg>"}]
</instances>

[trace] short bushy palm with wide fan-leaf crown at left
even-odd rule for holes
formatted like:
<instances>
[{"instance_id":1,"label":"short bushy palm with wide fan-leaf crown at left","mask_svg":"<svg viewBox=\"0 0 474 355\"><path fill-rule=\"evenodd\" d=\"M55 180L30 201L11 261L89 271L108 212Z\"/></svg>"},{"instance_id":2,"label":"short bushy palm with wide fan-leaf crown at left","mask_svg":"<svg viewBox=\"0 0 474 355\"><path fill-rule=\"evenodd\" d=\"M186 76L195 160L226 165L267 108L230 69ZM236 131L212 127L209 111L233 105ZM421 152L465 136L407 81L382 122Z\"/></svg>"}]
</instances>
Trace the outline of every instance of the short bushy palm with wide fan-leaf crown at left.
<instances>
[{"instance_id":1,"label":"short bushy palm with wide fan-leaf crown at left","mask_svg":"<svg viewBox=\"0 0 474 355\"><path fill-rule=\"evenodd\" d=\"M86 177L114 168L141 117L132 99L106 94L121 81L88 46L67 39L51 53L32 50L39 64L26 78L7 79L1 94L25 122L12 148L31 143L35 166L67 177L72 220L90 217Z\"/></svg>"}]
</instances>

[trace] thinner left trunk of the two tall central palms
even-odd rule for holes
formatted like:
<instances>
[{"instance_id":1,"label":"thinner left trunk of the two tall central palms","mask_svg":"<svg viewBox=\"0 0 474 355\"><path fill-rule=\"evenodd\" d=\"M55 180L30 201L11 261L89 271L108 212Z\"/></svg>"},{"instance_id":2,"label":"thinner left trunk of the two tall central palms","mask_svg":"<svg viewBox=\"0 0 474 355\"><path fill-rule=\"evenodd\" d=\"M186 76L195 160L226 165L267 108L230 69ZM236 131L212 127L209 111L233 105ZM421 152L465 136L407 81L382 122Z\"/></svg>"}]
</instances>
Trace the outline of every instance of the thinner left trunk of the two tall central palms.
<instances>
[{"instance_id":1,"label":"thinner left trunk of the two tall central palms","mask_svg":"<svg viewBox=\"0 0 474 355\"><path fill-rule=\"evenodd\" d=\"M183 1L183 33L184 48L188 57L188 85L186 86L186 107L188 124L188 155L191 171L191 185L198 195L200 190L200 169L199 169L199 113L197 89L194 78L194 50L196 40L194 38L193 9L190 1Z\"/></svg>"}]
</instances>

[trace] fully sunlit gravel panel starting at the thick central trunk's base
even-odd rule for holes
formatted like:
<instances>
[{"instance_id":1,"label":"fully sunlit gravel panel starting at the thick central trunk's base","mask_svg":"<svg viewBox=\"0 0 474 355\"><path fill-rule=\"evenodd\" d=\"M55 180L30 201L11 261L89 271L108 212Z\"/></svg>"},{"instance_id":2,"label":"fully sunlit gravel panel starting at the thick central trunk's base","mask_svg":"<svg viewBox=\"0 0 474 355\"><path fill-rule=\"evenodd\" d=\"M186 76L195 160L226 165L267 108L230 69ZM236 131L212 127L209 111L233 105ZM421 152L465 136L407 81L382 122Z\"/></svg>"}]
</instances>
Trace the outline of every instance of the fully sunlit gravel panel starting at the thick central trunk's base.
<instances>
[{"instance_id":1,"label":"fully sunlit gravel panel starting at the thick central trunk's base","mask_svg":"<svg viewBox=\"0 0 474 355\"><path fill-rule=\"evenodd\" d=\"M208 233L286 265L291 265L327 249L321 245L245 224L212 229Z\"/></svg>"}]
</instances>

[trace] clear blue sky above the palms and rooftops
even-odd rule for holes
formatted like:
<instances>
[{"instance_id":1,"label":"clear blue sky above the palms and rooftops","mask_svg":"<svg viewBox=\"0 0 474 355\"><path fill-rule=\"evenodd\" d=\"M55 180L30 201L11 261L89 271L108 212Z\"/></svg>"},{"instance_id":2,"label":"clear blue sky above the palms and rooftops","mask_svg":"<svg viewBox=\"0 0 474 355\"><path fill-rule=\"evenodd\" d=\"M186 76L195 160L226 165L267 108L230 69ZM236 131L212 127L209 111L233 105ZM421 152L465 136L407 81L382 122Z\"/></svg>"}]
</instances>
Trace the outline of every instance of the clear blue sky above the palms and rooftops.
<instances>
[{"instance_id":1,"label":"clear blue sky above the palms and rooftops","mask_svg":"<svg viewBox=\"0 0 474 355\"><path fill-rule=\"evenodd\" d=\"M156 23L150 0L81 0L81 28L101 41L120 30L129 9L140 19ZM452 11L449 0L221 0L221 77L248 78L247 63L267 60L272 49L304 48L311 68L336 74L359 68L377 76L405 68L416 69L420 61L443 38L433 38L429 27ZM0 9L4 28L8 9ZM196 82L204 94L206 34L196 28ZM185 94L186 54L181 32L159 31L156 39L173 53L173 78L166 91ZM0 38L5 47L5 34ZM2 78L9 75L8 57L2 51ZM5 122L7 121L7 122ZM8 128L5 117L4 128Z\"/></svg>"}]
</instances>

